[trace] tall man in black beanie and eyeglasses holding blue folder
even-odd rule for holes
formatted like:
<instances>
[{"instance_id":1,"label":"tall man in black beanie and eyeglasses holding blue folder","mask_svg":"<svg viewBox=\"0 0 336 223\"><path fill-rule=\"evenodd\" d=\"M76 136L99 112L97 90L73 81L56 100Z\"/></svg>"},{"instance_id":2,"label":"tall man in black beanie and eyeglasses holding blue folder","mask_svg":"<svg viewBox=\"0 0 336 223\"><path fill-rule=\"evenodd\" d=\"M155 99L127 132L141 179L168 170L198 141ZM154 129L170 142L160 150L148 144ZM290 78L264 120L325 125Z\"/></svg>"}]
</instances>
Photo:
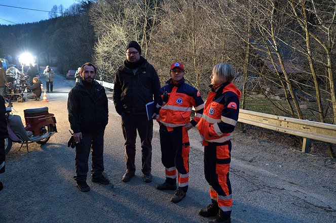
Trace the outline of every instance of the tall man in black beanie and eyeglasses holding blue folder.
<instances>
[{"instance_id":1,"label":"tall man in black beanie and eyeglasses holding blue folder","mask_svg":"<svg viewBox=\"0 0 336 223\"><path fill-rule=\"evenodd\" d=\"M153 120L147 119L146 104L159 100L160 81L154 67L141 56L141 47L130 41L126 47L126 60L115 77L114 103L122 118L125 138L126 173L123 182L135 175L136 131L141 140L142 173L146 183L152 182Z\"/></svg>"}]
</instances>

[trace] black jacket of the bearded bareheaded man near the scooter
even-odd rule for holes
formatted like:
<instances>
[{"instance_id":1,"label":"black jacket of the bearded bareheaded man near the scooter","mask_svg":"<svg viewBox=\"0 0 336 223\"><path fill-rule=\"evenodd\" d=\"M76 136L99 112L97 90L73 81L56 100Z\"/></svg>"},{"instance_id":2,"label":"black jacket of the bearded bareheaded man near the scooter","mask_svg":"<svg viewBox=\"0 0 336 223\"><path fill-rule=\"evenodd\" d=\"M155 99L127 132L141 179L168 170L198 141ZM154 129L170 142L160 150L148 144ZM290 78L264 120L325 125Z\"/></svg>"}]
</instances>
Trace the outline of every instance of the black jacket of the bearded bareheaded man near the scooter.
<instances>
[{"instance_id":1,"label":"black jacket of the bearded bareheaded man near the scooter","mask_svg":"<svg viewBox=\"0 0 336 223\"><path fill-rule=\"evenodd\" d=\"M104 130L108 122L108 101L105 89L94 81L95 98L86 89L80 79L69 92L68 114L70 127L74 133L97 132Z\"/></svg>"}]
</instances>

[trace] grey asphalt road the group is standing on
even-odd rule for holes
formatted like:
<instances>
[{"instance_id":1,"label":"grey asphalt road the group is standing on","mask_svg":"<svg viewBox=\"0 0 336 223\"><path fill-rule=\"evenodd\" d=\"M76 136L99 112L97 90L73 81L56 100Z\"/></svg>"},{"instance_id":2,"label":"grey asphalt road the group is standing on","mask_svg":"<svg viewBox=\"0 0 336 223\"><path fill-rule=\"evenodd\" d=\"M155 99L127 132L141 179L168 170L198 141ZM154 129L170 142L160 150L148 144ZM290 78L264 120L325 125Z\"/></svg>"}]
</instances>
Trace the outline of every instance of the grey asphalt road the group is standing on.
<instances>
[{"instance_id":1,"label":"grey asphalt road the group is standing on","mask_svg":"<svg viewBox=\"0 0 336 223\"><path fill-rule=\"evenodd\" d=\"M42 79L45 84L44 79ZM57 120L56 133L29 152L14 144L0 174L0 222L207 222L198 210L210 203L203 175L203 147L195 128L190 130L190 187L178 204L169 199L173 192L155 189L164 181L159 127L154 125L153 182L141 177L140 143L137 140L136 176L121 182L125 172L121 119L109 102L109 123L105 130L105 174L112 185L90 181L91 191L80 192L72 179L74 150L70 137L67 95L74 80L57 75L48 102L14 102L15 114L23 110L49 107ZM23 120L24 121L24 120ZM336 222L336 164L316 155L233 133L230 179L233 190L232 222Z\"/></svg>"}]
</instances>

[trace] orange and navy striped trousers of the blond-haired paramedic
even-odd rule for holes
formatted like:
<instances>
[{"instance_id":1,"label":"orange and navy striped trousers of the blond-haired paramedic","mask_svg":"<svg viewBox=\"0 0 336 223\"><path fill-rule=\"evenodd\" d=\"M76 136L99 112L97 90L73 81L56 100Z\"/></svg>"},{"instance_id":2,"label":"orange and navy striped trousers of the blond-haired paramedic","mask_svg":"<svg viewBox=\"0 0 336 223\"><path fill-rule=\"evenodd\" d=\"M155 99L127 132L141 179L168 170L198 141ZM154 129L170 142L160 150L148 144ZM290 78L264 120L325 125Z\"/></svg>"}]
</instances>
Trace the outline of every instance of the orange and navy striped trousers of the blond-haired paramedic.
<instances>
[{"instance_id":1,"label":"orange and navy striped trousers of the blond-haired paramedic","mask_svg":"<svg viewBox=\"0 0 336 223\"><path fill-rule=\"evenodd\" d=\"M229 179L231 141L209 143L204 147L204 174L210 186L210 198L218 202L225 215L231 215L232 191Z\"/></svg>"}]
</instances>

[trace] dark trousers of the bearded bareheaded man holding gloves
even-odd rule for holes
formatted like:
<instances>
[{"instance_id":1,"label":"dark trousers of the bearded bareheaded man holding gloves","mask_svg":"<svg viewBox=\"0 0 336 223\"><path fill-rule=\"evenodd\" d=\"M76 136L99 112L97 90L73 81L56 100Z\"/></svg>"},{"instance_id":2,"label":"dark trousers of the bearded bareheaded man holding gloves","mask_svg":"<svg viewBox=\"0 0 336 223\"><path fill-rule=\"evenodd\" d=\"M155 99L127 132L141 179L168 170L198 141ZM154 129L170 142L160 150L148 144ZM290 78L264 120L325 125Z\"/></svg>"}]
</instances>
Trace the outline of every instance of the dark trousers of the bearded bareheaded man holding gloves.
<instances>
[{"instance_id":1,"label":"dark trousers of the bearded bareheaded man holding gloves","mask_svg":"<svg viewBox=\"0 0 336 223\"><path fill-rule=\"evenodd\" d=\"M98 178L103 174L104 161L104 130L95 133L83 133L83 139L76 145L76 156L74 164L76 167L76 181L86 181L87 173L89 171L88 159L91 151L91 176Z\"/></svg>"}]
</instances>

